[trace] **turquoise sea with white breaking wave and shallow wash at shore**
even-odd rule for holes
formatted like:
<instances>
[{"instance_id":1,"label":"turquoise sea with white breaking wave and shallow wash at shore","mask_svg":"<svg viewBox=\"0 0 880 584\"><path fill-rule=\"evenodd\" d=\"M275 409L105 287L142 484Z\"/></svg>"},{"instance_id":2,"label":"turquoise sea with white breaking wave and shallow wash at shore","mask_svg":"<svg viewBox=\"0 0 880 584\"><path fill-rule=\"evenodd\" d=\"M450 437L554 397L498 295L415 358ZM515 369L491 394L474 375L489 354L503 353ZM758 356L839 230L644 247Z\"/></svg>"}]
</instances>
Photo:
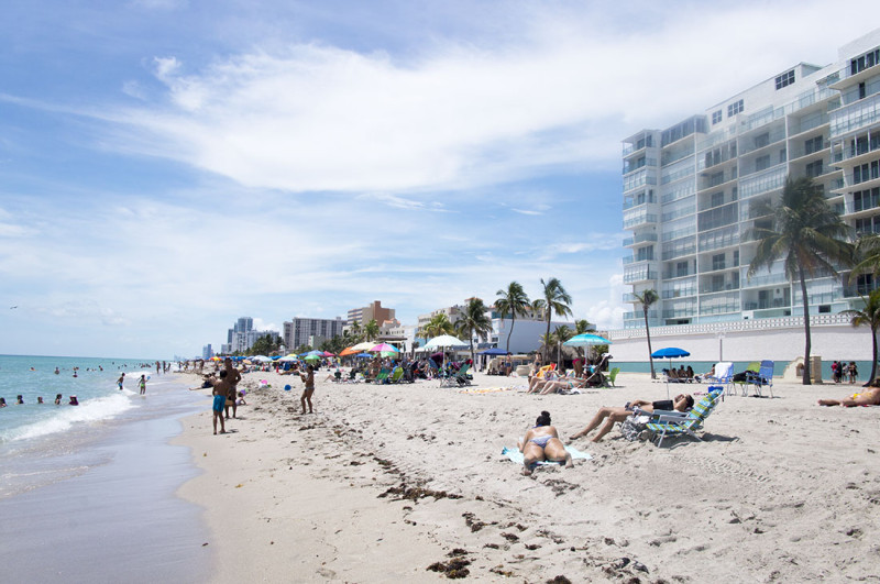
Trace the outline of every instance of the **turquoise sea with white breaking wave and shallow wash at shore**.
<instances>
[{"instance_id":1,"label":"turquoise sea with white breaking wave and shallow wash at shore","mask_svg":"<svg viewBox=\"0 0 880 584\"><path fill-rule=\"evenodd\" d=\"M207 580L201 509L175 496L198 471L168 443L180 418L209 407L202 395L156 374L155 360L0 355L0 397L4 579Z\"/></svg>"}]
</instances>

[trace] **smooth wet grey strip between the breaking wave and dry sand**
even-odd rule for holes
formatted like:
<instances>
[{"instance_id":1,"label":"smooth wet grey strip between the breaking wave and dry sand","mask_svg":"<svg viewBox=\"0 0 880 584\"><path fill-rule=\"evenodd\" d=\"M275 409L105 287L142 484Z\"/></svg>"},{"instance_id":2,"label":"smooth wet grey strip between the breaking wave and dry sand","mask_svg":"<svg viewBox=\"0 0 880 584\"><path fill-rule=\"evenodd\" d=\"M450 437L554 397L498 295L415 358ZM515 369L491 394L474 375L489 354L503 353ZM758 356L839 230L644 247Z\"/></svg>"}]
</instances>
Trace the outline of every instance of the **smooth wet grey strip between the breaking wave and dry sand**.
<instances>
[{"instance_id":1,"label":"smooth wet grey strip between the breaking wave and dry sand","mask_svg":"<svg viewBox=\"0 0 880 584\"><path fill-rule=\"evenodd\" d=\"M175 496L200 472L187 449L169 443L194 411L182 397L189 398L169 387L153 398L158 409L96 428L100 438L85 443L84 454L102 462L0 499L8 580L207 580L209 566L194 562L205 554L201 509Z\"/></svg>"}]
</instances>

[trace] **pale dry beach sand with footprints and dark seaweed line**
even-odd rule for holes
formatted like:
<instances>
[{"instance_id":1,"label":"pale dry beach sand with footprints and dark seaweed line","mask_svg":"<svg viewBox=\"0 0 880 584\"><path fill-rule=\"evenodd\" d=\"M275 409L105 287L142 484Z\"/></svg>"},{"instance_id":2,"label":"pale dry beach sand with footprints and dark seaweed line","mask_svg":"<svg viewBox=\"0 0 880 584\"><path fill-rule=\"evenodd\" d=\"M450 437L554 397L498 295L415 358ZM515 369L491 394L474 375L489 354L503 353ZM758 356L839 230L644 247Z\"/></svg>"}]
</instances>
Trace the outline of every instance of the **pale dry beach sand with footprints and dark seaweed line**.
<instances>
[{"instance_id":1,"label":"pale dry beach sand with footprints and dark seaweed line","mask_svg":"<svg viewBox=\"0 0 880 584\"><path fill-rule=\"evenodd\" d=\"M206 509L212 582L444 580L432 565L488 582L880 580L880 408L815 405L860 386L730 395L702 442L614 430L574 442L593 460L526 477L501 452L541 410L565 439L598 407L667 386L620 374L616 388L536 396L481 374L465 390L324 377L314 415L299 414L299 379L253 373L230 433L212 436L207 399L184 420L176 443L204 474L178 494Z\"/></svg>"}]
</instances>

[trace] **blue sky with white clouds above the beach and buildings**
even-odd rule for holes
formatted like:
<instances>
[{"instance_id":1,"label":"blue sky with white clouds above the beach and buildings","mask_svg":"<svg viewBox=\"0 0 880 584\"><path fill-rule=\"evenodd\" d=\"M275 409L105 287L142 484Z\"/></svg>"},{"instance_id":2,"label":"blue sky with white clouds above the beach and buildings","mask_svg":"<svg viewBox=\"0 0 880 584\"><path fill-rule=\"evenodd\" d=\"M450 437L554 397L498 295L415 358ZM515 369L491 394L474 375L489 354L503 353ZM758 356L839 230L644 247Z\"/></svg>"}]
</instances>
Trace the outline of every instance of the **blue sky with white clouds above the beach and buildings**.
<instances>
[{"instance_id":1,"label":"blue sky with white clouds above the beach and buildings","mask_svg":"<svg viewBox=\"0 0 880 584\"><path fill-rule=\"evenodd\" d=\"M557 277L622 326L622 141L873 2L7 0L0 353L169 359Z\"/></svg>"}]
</instances>

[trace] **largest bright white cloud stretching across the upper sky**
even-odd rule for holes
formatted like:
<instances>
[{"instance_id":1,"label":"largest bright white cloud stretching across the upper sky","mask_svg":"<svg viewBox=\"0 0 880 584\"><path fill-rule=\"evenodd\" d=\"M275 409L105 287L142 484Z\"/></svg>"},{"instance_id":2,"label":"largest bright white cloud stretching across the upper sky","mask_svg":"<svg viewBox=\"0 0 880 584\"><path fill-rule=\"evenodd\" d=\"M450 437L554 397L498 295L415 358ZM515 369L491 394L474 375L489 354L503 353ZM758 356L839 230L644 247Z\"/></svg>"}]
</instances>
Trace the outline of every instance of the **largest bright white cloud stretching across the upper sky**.
<instances>
[{"instance_id":1,"label":"largest bright white cloud stretching across the upper sky","mask_svg":"<svg viewBox=\"0 0 880 584\"><path fill-rule=\"evenodd\" d=\"M617 166L628 129L671 125L805 57L834 57L827 44L816 54L811 34L835 36L818 1L554 8L508 16L517 44L436 40L403 58L296 44L185 75L175 57L156 57L174 107L127 120L153 154L250 187L466 189ZM736 75L725 66L734 62Z\"/></svg>"}]
</instances>

